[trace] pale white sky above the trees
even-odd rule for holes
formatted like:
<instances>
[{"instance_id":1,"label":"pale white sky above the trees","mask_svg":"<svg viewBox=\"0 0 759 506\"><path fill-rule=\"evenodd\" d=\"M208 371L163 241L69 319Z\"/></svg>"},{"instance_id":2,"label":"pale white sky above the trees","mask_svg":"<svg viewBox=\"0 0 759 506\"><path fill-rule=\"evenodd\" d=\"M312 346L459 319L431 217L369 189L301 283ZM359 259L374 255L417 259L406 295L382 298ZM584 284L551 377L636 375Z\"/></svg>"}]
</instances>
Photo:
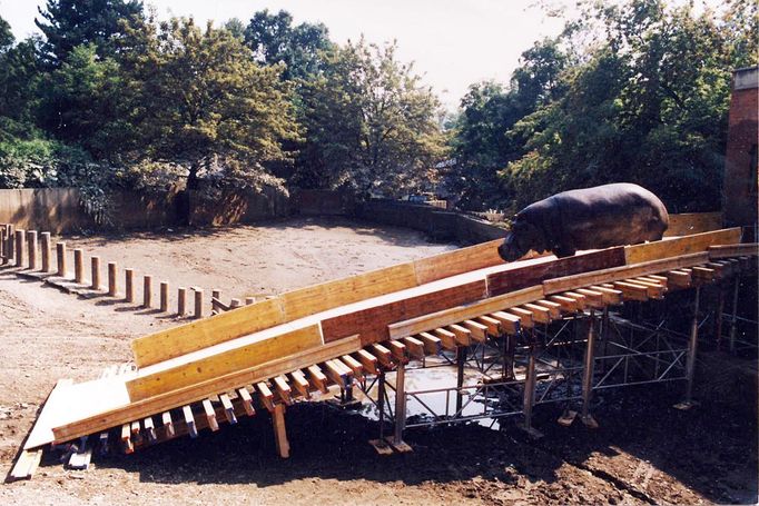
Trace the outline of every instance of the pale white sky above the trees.
<instances>
[{"instance_id":1,"label":"pale white sky above the trees","mask_svg":"<svg viewBox=\"0 0 759 506\"><path fill-rule=\"evenodd\" d=\"M711 0L710 0L711 1ZM719 0L713 0L719 1ZM520 54L558 34L563 20L545 14L535 0L145 0L159 19L193 16L205 23L254 12L284 9L295 23L321 21L332 40L383 43L397 40L398 57L432 86L447 108L455 108L470 85L494 79L507 82ZM552 0L572 9L572 0ZM17 39L38 33L34 17L45 0L0 0L0 16Z\"/></svg>"}]
</instances>

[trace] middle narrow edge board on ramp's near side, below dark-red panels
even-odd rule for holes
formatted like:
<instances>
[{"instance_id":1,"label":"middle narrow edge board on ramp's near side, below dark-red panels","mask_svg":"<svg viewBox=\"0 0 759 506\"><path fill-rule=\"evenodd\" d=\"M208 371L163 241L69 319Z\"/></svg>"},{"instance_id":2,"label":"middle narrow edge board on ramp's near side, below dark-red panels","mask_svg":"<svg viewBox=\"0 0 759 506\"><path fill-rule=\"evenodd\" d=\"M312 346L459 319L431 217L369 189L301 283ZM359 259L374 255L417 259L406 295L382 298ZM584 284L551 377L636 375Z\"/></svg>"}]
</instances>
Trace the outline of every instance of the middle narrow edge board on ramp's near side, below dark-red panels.
<instances>
[{"instance_id":1,"label":"middle narrow edge board on ramp's near side, below dark-red panels","mask_svg":"<svg viewBox=\"0 0 759 506\"><path fill-rule=\"evenodd\" d=\"M467 305L455 306L436 312L426 314L405 321L398 321L388 326L393 338L406 337L418 333L457 324L463 320L476 318L493 311L519 306L524 302L538 300L543 297L542 287L531 287L511 294L491 297Z\"/></svg>"}]
</instances>

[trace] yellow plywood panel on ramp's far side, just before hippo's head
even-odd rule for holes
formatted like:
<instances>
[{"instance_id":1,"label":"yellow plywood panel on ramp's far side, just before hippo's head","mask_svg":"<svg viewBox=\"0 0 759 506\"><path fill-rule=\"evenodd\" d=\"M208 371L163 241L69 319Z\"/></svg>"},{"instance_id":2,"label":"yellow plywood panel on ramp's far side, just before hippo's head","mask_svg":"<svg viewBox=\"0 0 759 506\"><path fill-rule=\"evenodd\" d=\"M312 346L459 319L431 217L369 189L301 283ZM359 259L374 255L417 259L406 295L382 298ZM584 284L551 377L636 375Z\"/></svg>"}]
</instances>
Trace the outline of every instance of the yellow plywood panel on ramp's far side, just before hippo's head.
<instances>
[{"instance_id":1,"label":"yellow plywood panel on ramp's far side, just before hippo's head","mask_svg":"<svg viewBox=\"0 0 759 506\"><path fill-rule=\"evenodd\" d=\"M505 235L504 230L504 237ZM416 282L424 285L463 272L504 264L499 255L499 246L502 242L503 239L491 240L415 260Z\"/></svg>"}]
</instances>

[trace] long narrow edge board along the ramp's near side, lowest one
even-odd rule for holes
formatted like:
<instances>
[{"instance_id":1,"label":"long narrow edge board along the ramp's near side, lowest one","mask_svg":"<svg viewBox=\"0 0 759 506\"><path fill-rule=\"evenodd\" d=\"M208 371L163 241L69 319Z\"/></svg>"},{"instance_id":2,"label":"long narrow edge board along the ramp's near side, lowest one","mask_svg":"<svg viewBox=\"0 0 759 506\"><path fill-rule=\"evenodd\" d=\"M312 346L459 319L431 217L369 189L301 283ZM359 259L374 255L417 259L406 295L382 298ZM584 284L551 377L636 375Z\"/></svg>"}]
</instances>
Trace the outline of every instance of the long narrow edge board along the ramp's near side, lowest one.
<instances>
[{"instance_id":1,"label":"long narrow edge board along the ramp's near side, lowest one","mask_svg":"<svg viewBox=\"0 0 759 506\"><path fill-rule=\"evenodd\" d=\"M65 443L81 436L110 429L132 420L138 420L157 413L185 406L207 398L209 395L234 390L244 385L255 384L275 376L292 373L313 364L318 364L343 355L356 353L362 348L358 336L351 336L328 343L315 349L272 360L244 370L208 379L195 385L167 391L154 397L128 403L107 411L77 419L52 427L52 436L48 443Z\"/></svg>"}]
</instances>

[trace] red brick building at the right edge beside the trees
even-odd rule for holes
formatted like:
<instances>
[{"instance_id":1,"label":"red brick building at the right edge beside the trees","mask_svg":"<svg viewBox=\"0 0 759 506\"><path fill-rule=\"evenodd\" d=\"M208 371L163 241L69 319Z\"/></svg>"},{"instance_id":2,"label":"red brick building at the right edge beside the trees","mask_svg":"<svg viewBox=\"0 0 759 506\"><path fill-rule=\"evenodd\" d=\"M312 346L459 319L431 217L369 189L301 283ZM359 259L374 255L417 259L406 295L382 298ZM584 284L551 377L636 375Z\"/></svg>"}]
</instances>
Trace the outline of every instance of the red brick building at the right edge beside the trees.
<instances>
[{"instance_id":1,"label":"red brick building at the right edge beside the trees","mask_svg":"<svg viewBox=\"0 0 759 506\"><path fill-rule=\"evenodd\" d=\"M751 227L757 237L759 194L757 145L759 143L759 67L733 72L724 161L724 222Z\"/></svg>"}]
</instances>

